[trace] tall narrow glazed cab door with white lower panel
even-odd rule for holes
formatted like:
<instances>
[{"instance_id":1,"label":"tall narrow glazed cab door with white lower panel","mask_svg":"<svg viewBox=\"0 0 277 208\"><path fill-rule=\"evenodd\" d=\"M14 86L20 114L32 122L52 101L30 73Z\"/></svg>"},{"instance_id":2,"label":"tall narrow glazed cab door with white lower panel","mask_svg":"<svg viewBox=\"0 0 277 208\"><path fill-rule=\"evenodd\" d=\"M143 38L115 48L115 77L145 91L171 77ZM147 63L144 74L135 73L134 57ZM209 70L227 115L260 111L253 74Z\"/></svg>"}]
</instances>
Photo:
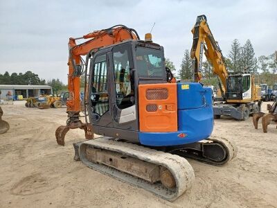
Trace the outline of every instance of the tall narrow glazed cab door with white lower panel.
<instances>
[{"instance_id":1,"label":"tall narrow glazed cab door with white lower panel","mask_svg":"<svg viewBox=\"0 0 277 208\"><path fill-rule=\"evenodd\" d=\"M133 76L134 63L132 58L132 44L114 46L111 51L111 96L113 126L118 130L138 130L136 112L135 78Z\"/></svg>"}]
</instances>

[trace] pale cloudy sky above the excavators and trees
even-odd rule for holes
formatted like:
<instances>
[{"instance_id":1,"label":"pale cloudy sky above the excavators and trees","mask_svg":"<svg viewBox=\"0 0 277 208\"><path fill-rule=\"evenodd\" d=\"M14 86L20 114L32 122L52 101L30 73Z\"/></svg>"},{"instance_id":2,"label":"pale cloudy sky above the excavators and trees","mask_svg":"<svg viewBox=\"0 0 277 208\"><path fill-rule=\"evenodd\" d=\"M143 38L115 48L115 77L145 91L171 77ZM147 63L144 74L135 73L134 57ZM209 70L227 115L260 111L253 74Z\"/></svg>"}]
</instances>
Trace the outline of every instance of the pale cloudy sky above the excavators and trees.
<instances>
[{"instance_id":1,"label":"pale cloudy sky above the excavators and trees","mask_svg":"<svg viewBox=\"0 0 277 208\"><path fill-rule=\"evenodd\" d=\"M153 41L179 69L203 14L223 55L234 39L251 40L257 57L269 55L277 50L276 10L276 0L0 0L0 73L31 70L66 83L69 37L124 24L143 39L154 23Z\"/></svg>"}]
</instances>

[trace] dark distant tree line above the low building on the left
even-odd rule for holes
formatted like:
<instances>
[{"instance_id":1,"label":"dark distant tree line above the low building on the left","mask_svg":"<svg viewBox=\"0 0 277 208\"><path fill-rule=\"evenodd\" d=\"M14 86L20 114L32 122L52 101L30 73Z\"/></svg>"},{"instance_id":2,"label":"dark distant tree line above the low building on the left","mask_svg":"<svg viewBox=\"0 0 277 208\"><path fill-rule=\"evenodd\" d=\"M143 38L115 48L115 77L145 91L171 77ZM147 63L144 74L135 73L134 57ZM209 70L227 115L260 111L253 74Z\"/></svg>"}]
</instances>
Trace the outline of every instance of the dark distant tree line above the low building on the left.
<instances>
[{"instance_id":1,"label":"dark distant tree line above the low building on the left","mask_svg":"<svg viewBox=\"0 0 277 208\"><path fill-rule=\"evenodd\" d=\"M62 81L57 78L53 78L51 80L44 80L39 78L37 73L33 73L32 71L26 71L25 73L0 73L0 84L1 85L49 85L53 89L53 93L57 94L62 89L66 89L66 85L62 83Z\"/></svg>"}]
</instances>

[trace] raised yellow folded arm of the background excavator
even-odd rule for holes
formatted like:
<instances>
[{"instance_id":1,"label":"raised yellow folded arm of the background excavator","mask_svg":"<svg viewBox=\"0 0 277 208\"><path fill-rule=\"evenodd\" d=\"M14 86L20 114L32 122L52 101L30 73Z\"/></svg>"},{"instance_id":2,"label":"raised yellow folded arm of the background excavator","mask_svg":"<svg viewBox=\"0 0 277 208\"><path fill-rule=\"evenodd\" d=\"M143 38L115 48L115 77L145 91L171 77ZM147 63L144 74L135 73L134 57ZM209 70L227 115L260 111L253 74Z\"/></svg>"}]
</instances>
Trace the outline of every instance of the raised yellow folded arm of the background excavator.
<instances>
[{"instance_id":1,"label":"raised yellow folded arm of the background excavator","mask_svg":"<svg viewBox=\"0 0 277 208\"><path fill-rule=\"evenodd\" d=\"M207 60L213 65L213 73L215 73L222 81L221 90L223 94L226 92L226 80L228 71L220 46L215 41L210 28L208 27L205 15L197 17L196 24L192 30L193 46L190 51L190 57L193 59L193 69L195 73L195 82L202 79L202 58L203 52Z\"/></svg>"}]
</instances>

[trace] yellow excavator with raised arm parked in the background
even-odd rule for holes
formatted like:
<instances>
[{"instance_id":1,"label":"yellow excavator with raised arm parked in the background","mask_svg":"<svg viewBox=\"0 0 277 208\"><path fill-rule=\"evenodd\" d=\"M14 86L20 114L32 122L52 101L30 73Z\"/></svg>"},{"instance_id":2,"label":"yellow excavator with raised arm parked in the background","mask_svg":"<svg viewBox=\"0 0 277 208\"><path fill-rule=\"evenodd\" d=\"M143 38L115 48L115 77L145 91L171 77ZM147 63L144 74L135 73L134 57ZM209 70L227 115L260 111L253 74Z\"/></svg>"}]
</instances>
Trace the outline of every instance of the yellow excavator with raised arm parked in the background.
<instances>
[{"instance_id":1,"label":"yellow excavator with raised arm parked in the background","mask_svg":"<svg viewBox=\"0 0 277 208\"><path fill-rule=\"evenodd\" d=\"M195 82L200 82L202 79L203 51L208 62L213 65L213 73L221 80L219 85L223 102L213 105L215 119L220 119L221 115L227 115L234 119L247 120L250 114L260 112L262 103L260 87L255 85L254 76L250 73L227 71L224 56L211 33L205 15L197 17L192 33L193 46L190 56L193 59Z\"/></svg>"}]
</instances>

